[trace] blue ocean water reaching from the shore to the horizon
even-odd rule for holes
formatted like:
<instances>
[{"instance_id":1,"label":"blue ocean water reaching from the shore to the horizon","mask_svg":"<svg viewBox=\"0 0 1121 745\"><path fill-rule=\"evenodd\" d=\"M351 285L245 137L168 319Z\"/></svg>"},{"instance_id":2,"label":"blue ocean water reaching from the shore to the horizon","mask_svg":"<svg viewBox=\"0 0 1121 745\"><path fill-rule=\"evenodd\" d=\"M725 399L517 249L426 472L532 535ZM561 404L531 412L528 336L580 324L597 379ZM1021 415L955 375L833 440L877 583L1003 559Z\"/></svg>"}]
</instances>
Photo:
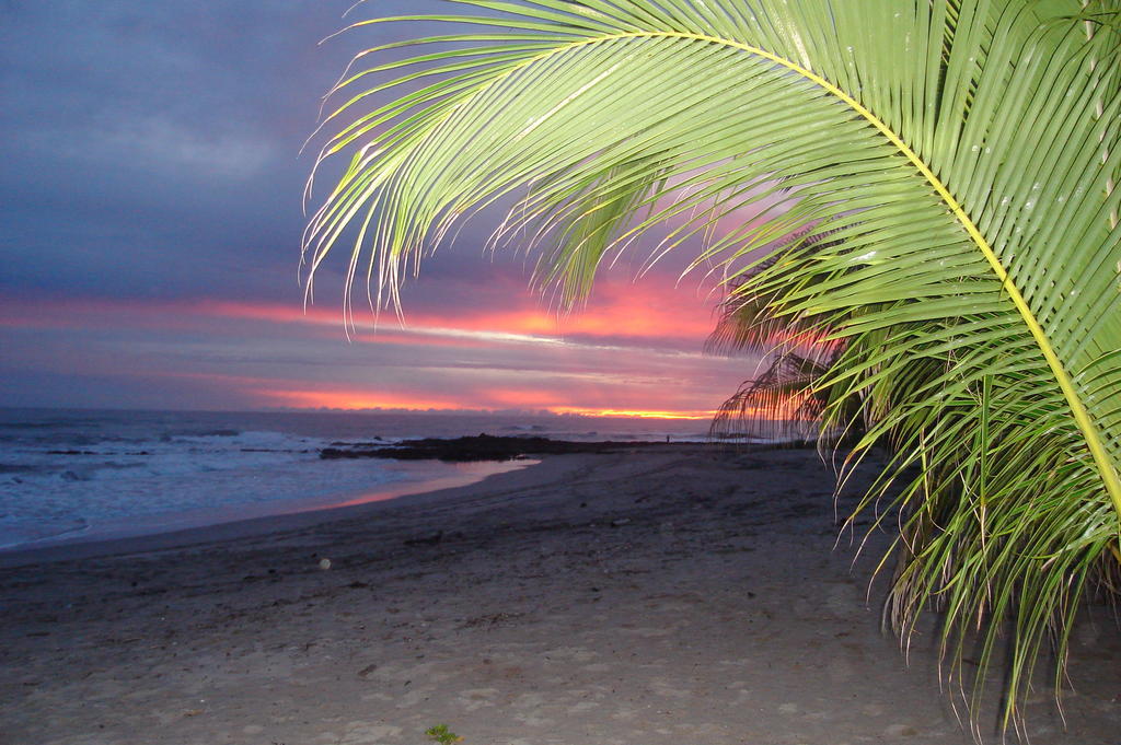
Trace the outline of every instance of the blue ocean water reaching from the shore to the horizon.
<instances>
[{"instance_id":1,"label":"blue ocean water reaching from the shore to the horizon","mask_svg":"<svg viewBox=\"0 0 1121 745\"><path fill-rule=\"evenodd\" d=\"M0 408L0 551L160 533L469 484L532 462L322 460L324 447L535 435L697 441L707 421L508 413Z\"/></svg>"}]
</instances>

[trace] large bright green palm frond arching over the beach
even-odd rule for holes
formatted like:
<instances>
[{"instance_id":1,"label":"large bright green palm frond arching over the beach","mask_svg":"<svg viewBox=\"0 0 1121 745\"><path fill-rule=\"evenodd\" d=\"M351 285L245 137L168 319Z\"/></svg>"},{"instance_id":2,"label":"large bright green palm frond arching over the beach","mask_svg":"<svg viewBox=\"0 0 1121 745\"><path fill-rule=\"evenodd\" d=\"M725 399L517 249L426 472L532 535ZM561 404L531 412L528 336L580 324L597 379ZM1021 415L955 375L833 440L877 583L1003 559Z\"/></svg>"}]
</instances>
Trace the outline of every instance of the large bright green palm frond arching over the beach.
<instances>
[{"instance_id":1,"label":"large bright green palm frond arching over the beach","mask_svg":"<svg viewBox=\"0 0 1121 745\"><path fill-rule=\"evenodd\" d=\"M1015 718L1118 552L1115 0L453 4L478 15L428 18L479 30L416 44L460 46L339 85L321 156L351 159L309 222L312 274L358 225L349 277L396 302L510 198L495 241L528 236L569 301L656 226L655 255L706 238L698 263L844 339L816 388L827 428L853 402L869 422L854 462L892 454L869 494L904 512L890 617L941 605L953 676L979 620L982 668L1010 624ZM812 225L835 241L753 269Z\"/></svg>"}]
</instances>

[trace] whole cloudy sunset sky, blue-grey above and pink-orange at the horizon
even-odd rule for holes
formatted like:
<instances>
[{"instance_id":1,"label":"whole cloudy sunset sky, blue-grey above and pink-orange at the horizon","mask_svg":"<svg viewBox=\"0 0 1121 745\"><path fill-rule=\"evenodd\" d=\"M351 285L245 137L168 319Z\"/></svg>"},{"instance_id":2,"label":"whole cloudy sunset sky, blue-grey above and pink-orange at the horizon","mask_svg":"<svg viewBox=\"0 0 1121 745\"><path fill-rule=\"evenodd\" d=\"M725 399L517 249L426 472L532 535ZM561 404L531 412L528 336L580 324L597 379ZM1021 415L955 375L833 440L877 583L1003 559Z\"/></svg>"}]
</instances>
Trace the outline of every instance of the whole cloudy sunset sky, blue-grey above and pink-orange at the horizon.
<instances>
[{"instance_id":1,"label":"whole cloudy sunset sky, blue-grey above and pink-orange at the horizon","mask_svg":"<svg viewBox=\"0 0 1121 745\"><path fill-rule=\"evenodd\" d=\"M0 406L703 415L752 373L701 354L715 296L679 263L636 280L636 253L558 318L481 250L497 216L426 260L404 328L346 338L341 262L305 314L300 146L350 57L409 34L319 45L350 4L0 0Z\"/></svg>"}]
</instances>

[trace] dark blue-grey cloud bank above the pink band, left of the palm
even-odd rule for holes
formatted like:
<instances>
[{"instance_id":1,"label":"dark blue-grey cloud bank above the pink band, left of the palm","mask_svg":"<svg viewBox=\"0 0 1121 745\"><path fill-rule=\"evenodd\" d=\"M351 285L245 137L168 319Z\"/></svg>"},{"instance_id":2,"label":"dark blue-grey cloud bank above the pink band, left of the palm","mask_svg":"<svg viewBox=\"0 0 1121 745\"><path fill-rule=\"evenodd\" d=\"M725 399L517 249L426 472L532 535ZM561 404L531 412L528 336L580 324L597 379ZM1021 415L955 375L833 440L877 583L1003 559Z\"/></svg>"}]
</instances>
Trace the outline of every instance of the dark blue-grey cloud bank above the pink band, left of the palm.
<instances>
[{"instance_id":1,"label":"dark blue-grey cloud bank above the pink band, left of the palm","mask_svg":"<svg viewBox=\"0 0 1121 745\"><path fill-rule=\"evenodd\" d=\"M318 46L349 4L9 3L0 287L297 301L299 148L345 62L393 32Z\"/></svg>"}]
</instances>

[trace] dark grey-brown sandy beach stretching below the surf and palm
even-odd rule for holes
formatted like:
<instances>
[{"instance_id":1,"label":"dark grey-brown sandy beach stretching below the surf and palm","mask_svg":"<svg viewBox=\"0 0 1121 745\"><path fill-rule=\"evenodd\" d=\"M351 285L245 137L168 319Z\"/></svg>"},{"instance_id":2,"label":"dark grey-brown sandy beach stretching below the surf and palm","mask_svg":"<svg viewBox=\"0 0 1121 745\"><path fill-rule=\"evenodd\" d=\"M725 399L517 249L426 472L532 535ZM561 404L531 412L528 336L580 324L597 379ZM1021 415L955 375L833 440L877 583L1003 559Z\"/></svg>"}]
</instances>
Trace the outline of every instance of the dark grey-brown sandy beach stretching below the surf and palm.
<instances>
[{"instance_id":1,"label":"dark grey-brown sandy beach stretching below the surf and palm","mask_svg":"<svg viewBox=\"0 0 1121 745\"><path fill-rule=\"evenodd\" d=\"M933 620L909 664L881 632L887 537L854 562L837 534L815 453L675 446L9 553L0 743L420 745L436 724L465 745L971 743ZM1115 745L1105 608L1072 648L1066 728L1044 686L1032 742Z\"/></svg>"}]
</instances>

